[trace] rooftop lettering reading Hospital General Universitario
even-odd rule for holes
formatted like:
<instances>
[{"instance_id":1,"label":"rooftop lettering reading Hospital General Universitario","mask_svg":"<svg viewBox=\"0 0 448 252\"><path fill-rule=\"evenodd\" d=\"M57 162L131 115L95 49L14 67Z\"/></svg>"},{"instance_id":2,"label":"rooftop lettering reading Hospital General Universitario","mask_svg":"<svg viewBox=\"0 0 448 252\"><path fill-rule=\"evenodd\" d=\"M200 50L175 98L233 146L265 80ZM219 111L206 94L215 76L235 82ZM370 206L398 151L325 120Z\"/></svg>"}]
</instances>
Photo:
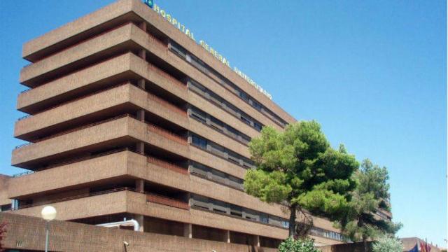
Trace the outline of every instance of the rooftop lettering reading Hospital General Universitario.
<instances>
[{"instance_id":1,"label":"rooftop lettering reading Hospital General Universitario","mask_svg":"<svg viewBox=\"0 0 448 252\"><path fill-rule=\"evenodd\" d=\"M193 32L188 29L188 27L186 27L183 23L179 22L179 20L177 20L176 18L174 18L171 14L167 13L165 10L163 10L162 8L160 8L160 6L158 6L157 4L155 4L153 2L153 0L144 0L144 3L146 3L147 6L149 6L150 8L152 8L155 12L157 12L159 15L162 16L162 18L165 18L165 20L167 20L168 22L170 22L172 25L174 25L174 27L176 27L177 29L179 29L179 31L182 31L183 34L186 34L186 36L188 36L188 38L191 38L193 41L196 42L195 36L193 34ZM230 62L228 61L228 59L226 59L223 55L221 55L219 52L217 52L214 48L212 48L211 46L209 46L207 43L205 43L205 41L200 40L199 44L205 49L207 50L207 52L210 52L211 55L213 55L216 59L218 59L221 63L225 64L226 66L228 66L230 69L232 69L232 67L230 66ZM237 73L239 76L241 76L241 78L244 78L244 80L246 80L249 84L253 85L253 87L255 87L258 91L260 91L262 94L265 94L269 99L272 99L272 95L269 94L266 90L264 90L262 87L260 87L260 85L258 85L257 83L255 83L255 81L253 81L249 76L247 76L245 73L243 73L241 70L237 69L236 66L233 67L233 71L235 71L235 73Z\"/></svg>"}]
</instances>

